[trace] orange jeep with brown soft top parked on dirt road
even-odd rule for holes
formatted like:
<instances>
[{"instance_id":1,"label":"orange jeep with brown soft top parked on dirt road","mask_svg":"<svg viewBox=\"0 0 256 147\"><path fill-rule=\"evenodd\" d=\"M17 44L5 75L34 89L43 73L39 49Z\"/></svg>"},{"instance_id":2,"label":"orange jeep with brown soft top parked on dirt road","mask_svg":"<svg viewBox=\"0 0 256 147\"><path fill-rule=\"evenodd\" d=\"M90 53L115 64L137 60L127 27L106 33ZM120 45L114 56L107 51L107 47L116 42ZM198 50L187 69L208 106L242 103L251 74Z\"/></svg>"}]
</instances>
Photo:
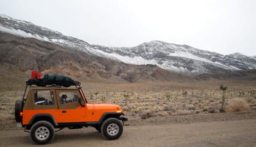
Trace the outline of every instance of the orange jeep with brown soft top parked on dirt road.
<instances>
[{"instance_id":1,"label":"orange jeep with brown soft top parked on dirt road","mask_svg":"<svg viewBox=\"0 0 256 147\"><path fill-rule=\"evenodd\" d=\"M69 86L74 88L66 88ZM15 103L17 127L24 127L35 144L50 143L55 132L64 127L93 126L106 139L118 139L123 133L124 121L128 120L122 115L125 113L119 105L88 103L76 81L67 85L28 81L23 99Z\"/></svg>"}]
</instances>

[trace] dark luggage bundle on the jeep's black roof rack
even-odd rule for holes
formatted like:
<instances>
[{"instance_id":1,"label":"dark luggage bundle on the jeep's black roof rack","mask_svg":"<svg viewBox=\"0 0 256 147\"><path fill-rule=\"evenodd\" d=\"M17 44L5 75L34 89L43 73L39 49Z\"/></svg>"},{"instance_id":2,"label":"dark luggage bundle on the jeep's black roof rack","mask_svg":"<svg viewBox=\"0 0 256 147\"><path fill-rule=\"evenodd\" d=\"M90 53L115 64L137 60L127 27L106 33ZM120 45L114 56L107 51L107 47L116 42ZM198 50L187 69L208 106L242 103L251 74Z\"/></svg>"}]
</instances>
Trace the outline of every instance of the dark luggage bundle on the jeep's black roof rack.
<instances>
[{"instance_id":1,"label":"dark luggage bundle on the jeep's black roof rack","mask_svg":"<svg viewBox=\"0 0 256 147\"><path fill-rule=\"evenodd\" d=\"M74 81L69 77L65 77L63 75L48 75L46 74L43 79L30 79L26 82L27 85L36 85L36 86L63 86L63 87L70 87L70 86L80 86L80 82Z\"/></svg>"}]
</instances>

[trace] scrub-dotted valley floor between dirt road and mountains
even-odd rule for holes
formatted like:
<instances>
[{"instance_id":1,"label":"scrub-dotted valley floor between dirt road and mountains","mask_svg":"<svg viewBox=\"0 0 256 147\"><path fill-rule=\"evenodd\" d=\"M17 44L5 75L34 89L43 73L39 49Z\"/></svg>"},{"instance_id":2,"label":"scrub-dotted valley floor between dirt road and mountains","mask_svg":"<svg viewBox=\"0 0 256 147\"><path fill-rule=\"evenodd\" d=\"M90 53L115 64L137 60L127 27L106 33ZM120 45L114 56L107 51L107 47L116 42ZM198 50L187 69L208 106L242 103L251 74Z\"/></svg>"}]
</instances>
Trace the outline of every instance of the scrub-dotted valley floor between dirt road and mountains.
<instances>
[{"instance_id":1,"label":"scrub-dotted valley floor between dirt road and mountains","mask_svg":"<svg viewBox=\"0 0 256 147\"><path fill-rule=\"evenodd\" d=\"M88 102L122 106L128 117L151 118L219 114L222 102L220 84L228 86L226 107L242 99L243 113L256 113L256 81L192 81L150 83L82 83ZM0 89L0 122L14 120L14 104L25 86ZM95 93L98 93L97 95Z\"/></svg>"}]
</instances>

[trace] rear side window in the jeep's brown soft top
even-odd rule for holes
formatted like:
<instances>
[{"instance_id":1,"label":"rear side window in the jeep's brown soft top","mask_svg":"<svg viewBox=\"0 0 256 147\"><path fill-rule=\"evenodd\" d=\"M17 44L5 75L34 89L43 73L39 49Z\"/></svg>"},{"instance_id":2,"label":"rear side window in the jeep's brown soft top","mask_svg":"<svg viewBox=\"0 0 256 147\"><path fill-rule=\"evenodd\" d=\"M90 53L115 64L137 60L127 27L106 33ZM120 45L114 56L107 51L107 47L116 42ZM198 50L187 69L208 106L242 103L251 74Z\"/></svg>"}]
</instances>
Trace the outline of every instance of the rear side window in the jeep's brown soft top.
<instances>
[{"instance_id":1,"label":"rear side window in the jeep's brown soft top","mask_svg":"<svg viewBox=\"0 0 256 147\"><path fill-rule=\"evenodd\" d=\"M53 105L54 94L53 91L34 91L34 104L35 105Z\"/></svg>"}]
</instances>

